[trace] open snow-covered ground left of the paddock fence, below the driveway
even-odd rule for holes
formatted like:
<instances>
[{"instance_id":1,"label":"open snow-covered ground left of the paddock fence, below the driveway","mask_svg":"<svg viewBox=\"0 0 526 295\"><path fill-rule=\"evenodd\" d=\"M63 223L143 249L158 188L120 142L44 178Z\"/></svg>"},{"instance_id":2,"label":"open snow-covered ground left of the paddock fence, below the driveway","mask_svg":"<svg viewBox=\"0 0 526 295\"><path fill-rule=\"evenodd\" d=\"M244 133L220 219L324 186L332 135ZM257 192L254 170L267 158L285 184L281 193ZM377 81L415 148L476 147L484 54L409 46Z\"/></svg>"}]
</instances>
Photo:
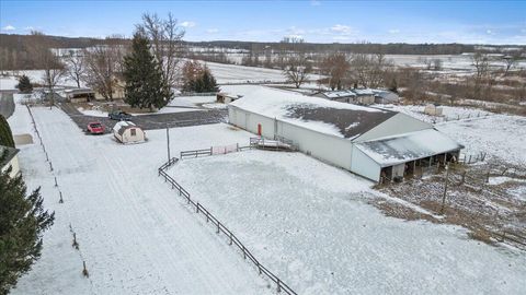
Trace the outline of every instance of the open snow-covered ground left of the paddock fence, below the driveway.
<instances>
[{"instance_id":1,"label":"open snow-covered ground left of the paddock fence, below the driveway","mask_svg":"<svg viewBox=\"0 0 526 295\"><path fill-rule=\"evenodd\" d=\"M49 172L39 144L20 146L20 165L30 189L42 186L56 221L44 235L41 260L12 294L270 292L268 283L158 178L157 167L165 161L163 130L149 131L145 144L121 145L111 135L84 135L57 108L32 110L55 169ZM14 133L31 131L24 106L16 105L9 122ZM248 139L225 125L171 132L174 149ZM80 250L71 247L70 225ZM82 261L89 279L81 274Z\"/></svg>"}]
</instances>

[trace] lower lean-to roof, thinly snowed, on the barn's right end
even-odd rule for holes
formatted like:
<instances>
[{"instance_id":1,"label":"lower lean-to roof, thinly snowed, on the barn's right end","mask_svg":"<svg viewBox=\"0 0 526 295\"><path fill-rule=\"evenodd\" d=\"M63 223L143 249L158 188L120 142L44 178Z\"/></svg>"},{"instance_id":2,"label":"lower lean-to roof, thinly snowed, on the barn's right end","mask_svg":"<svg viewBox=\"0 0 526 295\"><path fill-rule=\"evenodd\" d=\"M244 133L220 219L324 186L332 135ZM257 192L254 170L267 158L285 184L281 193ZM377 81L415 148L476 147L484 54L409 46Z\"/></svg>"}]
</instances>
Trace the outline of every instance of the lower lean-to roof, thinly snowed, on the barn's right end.
<instances>
[{"instance_id":1,"label":"lower lean-to roof, thinly snowed, on the barn's right end","mask_svg":"<svg viewBox=\"0 0 526 295\"><path fill-rule=\"evenodd\" d=\"M436 129L361 142L356 148L382 167L464 149Z\"/></svg>"}]
</instances>

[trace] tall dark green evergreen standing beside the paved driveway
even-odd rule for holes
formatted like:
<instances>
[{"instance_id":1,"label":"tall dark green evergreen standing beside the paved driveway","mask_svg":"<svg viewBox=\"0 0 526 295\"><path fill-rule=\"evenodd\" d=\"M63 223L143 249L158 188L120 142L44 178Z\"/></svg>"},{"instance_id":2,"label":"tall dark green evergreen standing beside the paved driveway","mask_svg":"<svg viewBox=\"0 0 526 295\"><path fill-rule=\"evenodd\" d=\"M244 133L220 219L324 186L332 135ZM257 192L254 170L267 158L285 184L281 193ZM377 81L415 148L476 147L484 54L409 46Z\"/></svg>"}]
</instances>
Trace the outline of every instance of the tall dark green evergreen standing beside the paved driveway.
<instances>
[{"instance_id":1,"label":"tall dark green evergreen standing beside the paved driveway","mask_svg":"<svg viewBox=\"0 0 526 295\"><path fill-rule=\"evenodd\" d=\"M134 35L132 52L124 58L124 80L125 102L133 107L162 108L172 97L148 39L139 33Z\"/></svg>"}]
</instances>

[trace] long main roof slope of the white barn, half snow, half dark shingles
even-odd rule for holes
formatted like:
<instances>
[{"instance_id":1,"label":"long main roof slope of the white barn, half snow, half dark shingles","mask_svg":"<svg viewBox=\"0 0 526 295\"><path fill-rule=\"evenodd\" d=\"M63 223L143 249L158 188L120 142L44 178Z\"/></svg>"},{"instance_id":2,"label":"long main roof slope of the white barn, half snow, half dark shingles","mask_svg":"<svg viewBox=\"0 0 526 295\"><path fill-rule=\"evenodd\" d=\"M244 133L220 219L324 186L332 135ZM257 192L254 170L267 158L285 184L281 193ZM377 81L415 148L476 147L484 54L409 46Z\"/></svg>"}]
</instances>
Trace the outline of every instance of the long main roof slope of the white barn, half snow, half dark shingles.
<instances>
[{"instance_id":1,"label":"long main roof slope of the white barn, half snow, half dark shingles","mask_svg":"<svg viewBox=\"0 0 526 295\"><path fill-rule=\"evenodd\" d=\"M350 140L398 114L265 86L250 86L243 94L229 107Z\"/></svg>"}]
</instances>

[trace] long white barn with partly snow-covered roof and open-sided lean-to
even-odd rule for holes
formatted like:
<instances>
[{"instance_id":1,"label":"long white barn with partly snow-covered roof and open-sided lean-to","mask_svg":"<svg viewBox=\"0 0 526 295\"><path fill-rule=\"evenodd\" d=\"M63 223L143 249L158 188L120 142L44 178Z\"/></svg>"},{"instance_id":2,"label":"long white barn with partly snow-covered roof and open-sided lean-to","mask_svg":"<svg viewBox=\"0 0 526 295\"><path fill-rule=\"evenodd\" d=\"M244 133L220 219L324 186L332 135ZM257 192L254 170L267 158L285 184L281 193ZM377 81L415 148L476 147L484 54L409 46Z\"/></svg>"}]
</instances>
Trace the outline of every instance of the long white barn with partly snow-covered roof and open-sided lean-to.
<instances>
[{"instance_id":1,"label":"long white barn with partly snow-covered roof and open-sided lean-to","mask_svg":"<svg viewBox=\"0 0 526 295\"><path fill-rule=\"evenodd\" d=\"M464 148L408 115L264 86L245 86L228 106L230 123L374 181L458 158Z\"/></svg>"}]
</instances>

